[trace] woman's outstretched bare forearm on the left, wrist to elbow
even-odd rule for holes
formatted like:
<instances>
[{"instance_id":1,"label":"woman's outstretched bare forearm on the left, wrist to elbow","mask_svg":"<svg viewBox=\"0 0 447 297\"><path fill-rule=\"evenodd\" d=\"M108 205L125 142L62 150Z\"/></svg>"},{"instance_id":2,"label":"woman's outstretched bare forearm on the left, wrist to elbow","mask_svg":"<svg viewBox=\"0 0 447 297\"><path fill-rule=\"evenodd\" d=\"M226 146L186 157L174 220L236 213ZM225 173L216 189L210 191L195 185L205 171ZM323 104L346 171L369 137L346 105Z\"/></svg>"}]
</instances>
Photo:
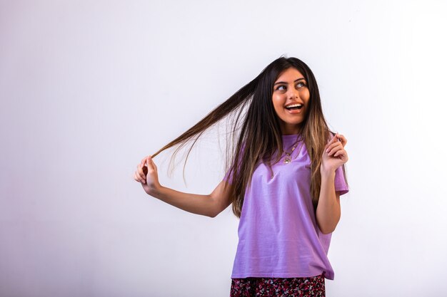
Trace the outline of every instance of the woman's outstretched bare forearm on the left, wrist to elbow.
<instances>
[{"instance_id":1,"label":"woman's outstretched bare forearm on the left, wrist to elbow","mask_svg":"<svg viewBox=\"0 0 447 297\"><path fill-rule=\"evenodd\" d=\"M201 214L206 217L215 216L215 205L210 195L189 194L168 187L159 187L151 196L186 212Z\"/></svg>"}]
</instances>

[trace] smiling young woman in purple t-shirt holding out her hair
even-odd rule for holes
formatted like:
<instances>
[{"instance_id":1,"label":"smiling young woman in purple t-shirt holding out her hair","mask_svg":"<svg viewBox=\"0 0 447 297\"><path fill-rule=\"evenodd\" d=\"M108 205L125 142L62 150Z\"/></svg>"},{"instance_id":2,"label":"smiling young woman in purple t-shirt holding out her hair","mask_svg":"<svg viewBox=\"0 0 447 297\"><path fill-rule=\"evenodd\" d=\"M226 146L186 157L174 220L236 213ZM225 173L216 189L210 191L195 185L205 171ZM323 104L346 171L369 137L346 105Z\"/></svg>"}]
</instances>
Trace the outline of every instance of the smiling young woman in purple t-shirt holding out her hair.
<instances>
[{"instance_id":1,"label":"smiling young woman in purple t-shirt holding out her hair","mask_svg":"<svg viewBox=\"0 0 447 297\"><path fill-rule=\"evenodd\" d=\"M153 158L195 143L228 115L237 115L231 134L237 141L216 189L201 195L161 186ZM340 195L348 192L346 142L328 129L311 69L281 57L144 157L134 179L147 194L194 214L216 217L232 204L240 221L231 296L325 296L325 278L334 278L327 257L331 234L341 216Z\"/></svg>"}]
</instances>

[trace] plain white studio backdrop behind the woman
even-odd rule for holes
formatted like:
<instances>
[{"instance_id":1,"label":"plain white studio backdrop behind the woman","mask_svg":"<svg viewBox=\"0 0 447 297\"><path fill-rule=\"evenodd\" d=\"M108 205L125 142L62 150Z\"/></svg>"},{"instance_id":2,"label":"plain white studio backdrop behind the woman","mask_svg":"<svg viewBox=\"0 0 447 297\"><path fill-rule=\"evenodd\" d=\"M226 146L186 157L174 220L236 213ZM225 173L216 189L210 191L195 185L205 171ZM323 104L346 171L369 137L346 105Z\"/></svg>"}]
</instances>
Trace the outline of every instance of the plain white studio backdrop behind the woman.
<instances>
[{"instance_id":1,"label":"plain white studio backdrop behind the woman","mask_svg":"<svg viewBox=\"0 0 447 297\"><path fill-rule=\"evenodd\" d=\"M446 1L0 1L0 296L229 296L238 219L136 165L281 55L348 139L326 296L443 296ZM220 135L220 134L219 134ZM209 194L210 132L161 183Z\"/></svg>"}]
</instances>

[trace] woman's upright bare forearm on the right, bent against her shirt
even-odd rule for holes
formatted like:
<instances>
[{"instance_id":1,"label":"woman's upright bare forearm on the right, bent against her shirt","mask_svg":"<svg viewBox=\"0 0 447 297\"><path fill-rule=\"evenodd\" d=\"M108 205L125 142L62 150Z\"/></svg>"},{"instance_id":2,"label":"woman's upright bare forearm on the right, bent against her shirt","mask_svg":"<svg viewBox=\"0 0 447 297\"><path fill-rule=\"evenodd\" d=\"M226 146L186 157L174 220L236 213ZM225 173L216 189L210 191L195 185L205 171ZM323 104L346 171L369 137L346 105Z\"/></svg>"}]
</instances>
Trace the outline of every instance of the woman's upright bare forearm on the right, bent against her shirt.
<instances>
[{"instance_id":1,"label":"woman's upright bare forearm on the right, bent against her shirt","mask_svg":"<svg viewBox=\"0 0 447 297\"><path fill-rule=\"evenodd\" d=\"M316 221L324 234L336 229L341 217L340 203L335 192L335 171L321 172L321 189L316 208Z\"/></svg>"}]
</instances>

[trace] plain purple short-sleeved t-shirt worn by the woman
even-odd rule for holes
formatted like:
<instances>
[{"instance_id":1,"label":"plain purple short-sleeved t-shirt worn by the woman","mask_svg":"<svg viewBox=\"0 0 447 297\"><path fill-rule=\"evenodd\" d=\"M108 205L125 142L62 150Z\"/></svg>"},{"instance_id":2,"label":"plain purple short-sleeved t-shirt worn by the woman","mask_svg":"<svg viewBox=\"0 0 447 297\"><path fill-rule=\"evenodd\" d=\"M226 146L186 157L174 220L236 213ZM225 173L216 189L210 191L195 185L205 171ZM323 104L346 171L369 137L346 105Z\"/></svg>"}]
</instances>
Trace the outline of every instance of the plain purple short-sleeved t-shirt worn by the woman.
<instances>
[{"instance_id":1,"label":"plain purple short-sleeved t-shirt worn by the woman","mask_svg":"<svg viewBox=\"0 0 447 297\"><path fill-rule=\"evenodd\" d=\"M283 149L290 151L297 135L283 135ZM300 150L301 147L301 150ZM299 152L298 152L299 151ZM238 247L231 278L295 278L318 276L333 279L328 260L331 233L321 233L311 199L311 159L303 141L291 155L268 166L261 163L246 190L238 226ZM224 179L231 182L228 172ZM335 190L348 192L342 167L335 174Z\"/></svg>"}]
</instances>

